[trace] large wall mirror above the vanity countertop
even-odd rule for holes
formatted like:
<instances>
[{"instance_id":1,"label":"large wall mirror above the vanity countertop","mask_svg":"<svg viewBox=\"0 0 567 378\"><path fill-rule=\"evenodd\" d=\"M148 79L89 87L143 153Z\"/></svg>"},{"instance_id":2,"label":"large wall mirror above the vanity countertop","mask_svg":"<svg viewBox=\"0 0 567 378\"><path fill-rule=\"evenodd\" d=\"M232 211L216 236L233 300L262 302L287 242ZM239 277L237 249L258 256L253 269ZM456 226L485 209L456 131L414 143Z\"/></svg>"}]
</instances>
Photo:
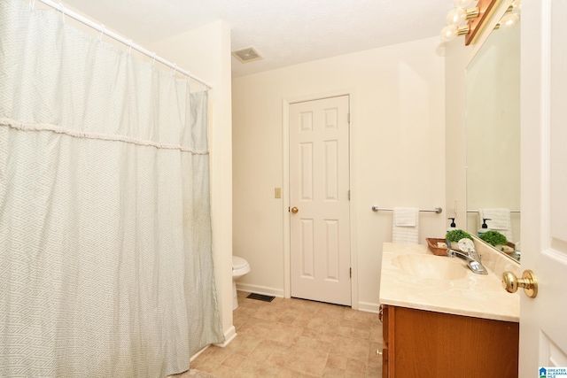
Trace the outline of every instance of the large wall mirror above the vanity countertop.
<instances>
[{"instance_id":1,"label":"large wall mirror above the vanity countertop","mask_svg":"<svg viewBox=\"0 0 567 378\"><path fill-rule=\"evenodd\" d=\"M519 262L519 24L491 32L467 67L466 85L467 230L478 235L488 213L495 218L488 228L508 236L513 250L506 255Z\"/></svg>"}]
</instances>

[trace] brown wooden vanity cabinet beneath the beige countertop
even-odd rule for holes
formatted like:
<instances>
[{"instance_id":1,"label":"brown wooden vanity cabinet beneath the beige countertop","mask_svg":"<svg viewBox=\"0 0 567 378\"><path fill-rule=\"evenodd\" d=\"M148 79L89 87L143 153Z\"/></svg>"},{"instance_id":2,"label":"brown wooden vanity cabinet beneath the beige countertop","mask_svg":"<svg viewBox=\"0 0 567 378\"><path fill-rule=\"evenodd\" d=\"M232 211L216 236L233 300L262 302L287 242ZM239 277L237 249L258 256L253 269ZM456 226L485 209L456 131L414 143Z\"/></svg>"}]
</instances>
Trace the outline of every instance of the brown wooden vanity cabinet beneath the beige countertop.
<instances>
[{"instance_id":1,"label":"brown wooden vanity cabinet beneath the beige countertop","mask_svg":"<svg viewBox=\"0 0 567 378\"><path fill-rule=\"evenodd\" d=\"M517 378L519 324L384 305L383 378Z\"/></svg>"}]
</instances>

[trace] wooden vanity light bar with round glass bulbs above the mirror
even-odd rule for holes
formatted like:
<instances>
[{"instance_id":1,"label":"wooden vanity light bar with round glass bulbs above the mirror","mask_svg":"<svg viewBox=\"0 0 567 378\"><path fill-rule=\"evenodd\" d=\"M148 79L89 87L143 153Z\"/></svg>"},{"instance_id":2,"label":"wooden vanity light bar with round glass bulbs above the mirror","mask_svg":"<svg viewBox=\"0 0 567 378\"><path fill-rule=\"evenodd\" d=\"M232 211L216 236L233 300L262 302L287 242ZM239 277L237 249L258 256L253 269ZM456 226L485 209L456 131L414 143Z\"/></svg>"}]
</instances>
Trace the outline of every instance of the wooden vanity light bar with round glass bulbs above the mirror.
<instances>
[{"instance_id":1,"label":"wooden vanity light bar with round glass bulbs above the mirror","mask_svg":"<svg viewBox=\"0 0 567 378\"><path fill-rule=\"evenodd\" d=\"M467 8L477 3L473 8ZM454 0L454 9L447 14L447 27L441 30L441 41L449 42L465 35L465 45L474 43L501 0ZM466 24L465 24L466 23Z\"/></svg>"}]
</instances>

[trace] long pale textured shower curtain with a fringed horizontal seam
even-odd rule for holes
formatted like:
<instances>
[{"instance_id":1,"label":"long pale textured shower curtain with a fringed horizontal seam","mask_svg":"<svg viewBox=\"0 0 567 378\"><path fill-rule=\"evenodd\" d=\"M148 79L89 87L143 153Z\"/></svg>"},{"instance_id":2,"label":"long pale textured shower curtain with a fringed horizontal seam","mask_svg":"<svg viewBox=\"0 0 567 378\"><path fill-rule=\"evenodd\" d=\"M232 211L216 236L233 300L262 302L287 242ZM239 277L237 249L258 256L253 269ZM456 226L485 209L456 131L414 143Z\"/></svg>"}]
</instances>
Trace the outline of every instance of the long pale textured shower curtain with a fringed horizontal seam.
<instances>
[{"instance_id":1,"label":"long pale textured shower curtain with a fringed horizontal seam","mask_svg":"<svg viewBox=\"0 0 567 378\"><path fill-rule=\"evenodd\" d=\"M0 0L0 376L163 377L223 340L207 93Z\"/></svg>"}]
</instances>

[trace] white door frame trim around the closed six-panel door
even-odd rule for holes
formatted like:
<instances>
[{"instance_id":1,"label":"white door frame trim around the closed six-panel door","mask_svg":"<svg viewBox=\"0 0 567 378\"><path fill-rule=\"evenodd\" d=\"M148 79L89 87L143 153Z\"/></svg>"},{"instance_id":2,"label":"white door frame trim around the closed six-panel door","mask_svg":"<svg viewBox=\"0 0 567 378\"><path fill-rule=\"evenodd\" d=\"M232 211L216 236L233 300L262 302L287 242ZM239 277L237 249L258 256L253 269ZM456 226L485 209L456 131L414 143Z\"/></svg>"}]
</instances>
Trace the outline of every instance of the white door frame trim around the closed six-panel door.
<instances>
[{"instance_id":1,"label":"white door frame trim around the closed six-panel door","mask_svg":"<svg viewBox=\"0 0 567 378\"><path fill-rule=\"evenodd\" d=\"M321 100L328 97L349 96L348 112L350 113L350 122L348 127L348 154L349 154L349 188L351 190L351 199L349 201L349 235L351 250L351 307L358 310L358 253L356 249L356 170L355 155L353 154L353 146L355 145L354 127L356 117L353 116L353 109L356 109L356 101L353 89L333 90L330 92L322 92L315 95L297 96L284 98L282 101L282 155L283 155L283 190L284 196L282 201L283 212L283 296L291 297L291 230L290 230L290 104L301 103L306 101Z\"/></svg>"}]
</instances>

